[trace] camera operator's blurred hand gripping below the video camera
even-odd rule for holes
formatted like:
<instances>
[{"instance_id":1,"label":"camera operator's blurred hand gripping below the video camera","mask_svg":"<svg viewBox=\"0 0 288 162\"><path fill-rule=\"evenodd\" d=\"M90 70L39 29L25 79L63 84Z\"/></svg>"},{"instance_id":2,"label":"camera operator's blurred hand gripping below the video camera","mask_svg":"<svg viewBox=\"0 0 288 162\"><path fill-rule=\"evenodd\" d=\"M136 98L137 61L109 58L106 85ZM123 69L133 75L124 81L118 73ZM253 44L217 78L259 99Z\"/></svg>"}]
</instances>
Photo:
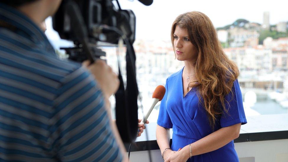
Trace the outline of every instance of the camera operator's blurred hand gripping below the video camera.
<instances>
[{"instance_id":1,"label":"camera operator's blurred hand gripping below the video camera","mask_svg":"<svg viewBox=\"0 0 288 162\"><path fill-rule=\"evenodd\" d=\"M97 59L93 64L89 60L82 63L94 76L107 99L119 88L120 81L112 68L105 61Z\"/></svg>"}]
</instances>

